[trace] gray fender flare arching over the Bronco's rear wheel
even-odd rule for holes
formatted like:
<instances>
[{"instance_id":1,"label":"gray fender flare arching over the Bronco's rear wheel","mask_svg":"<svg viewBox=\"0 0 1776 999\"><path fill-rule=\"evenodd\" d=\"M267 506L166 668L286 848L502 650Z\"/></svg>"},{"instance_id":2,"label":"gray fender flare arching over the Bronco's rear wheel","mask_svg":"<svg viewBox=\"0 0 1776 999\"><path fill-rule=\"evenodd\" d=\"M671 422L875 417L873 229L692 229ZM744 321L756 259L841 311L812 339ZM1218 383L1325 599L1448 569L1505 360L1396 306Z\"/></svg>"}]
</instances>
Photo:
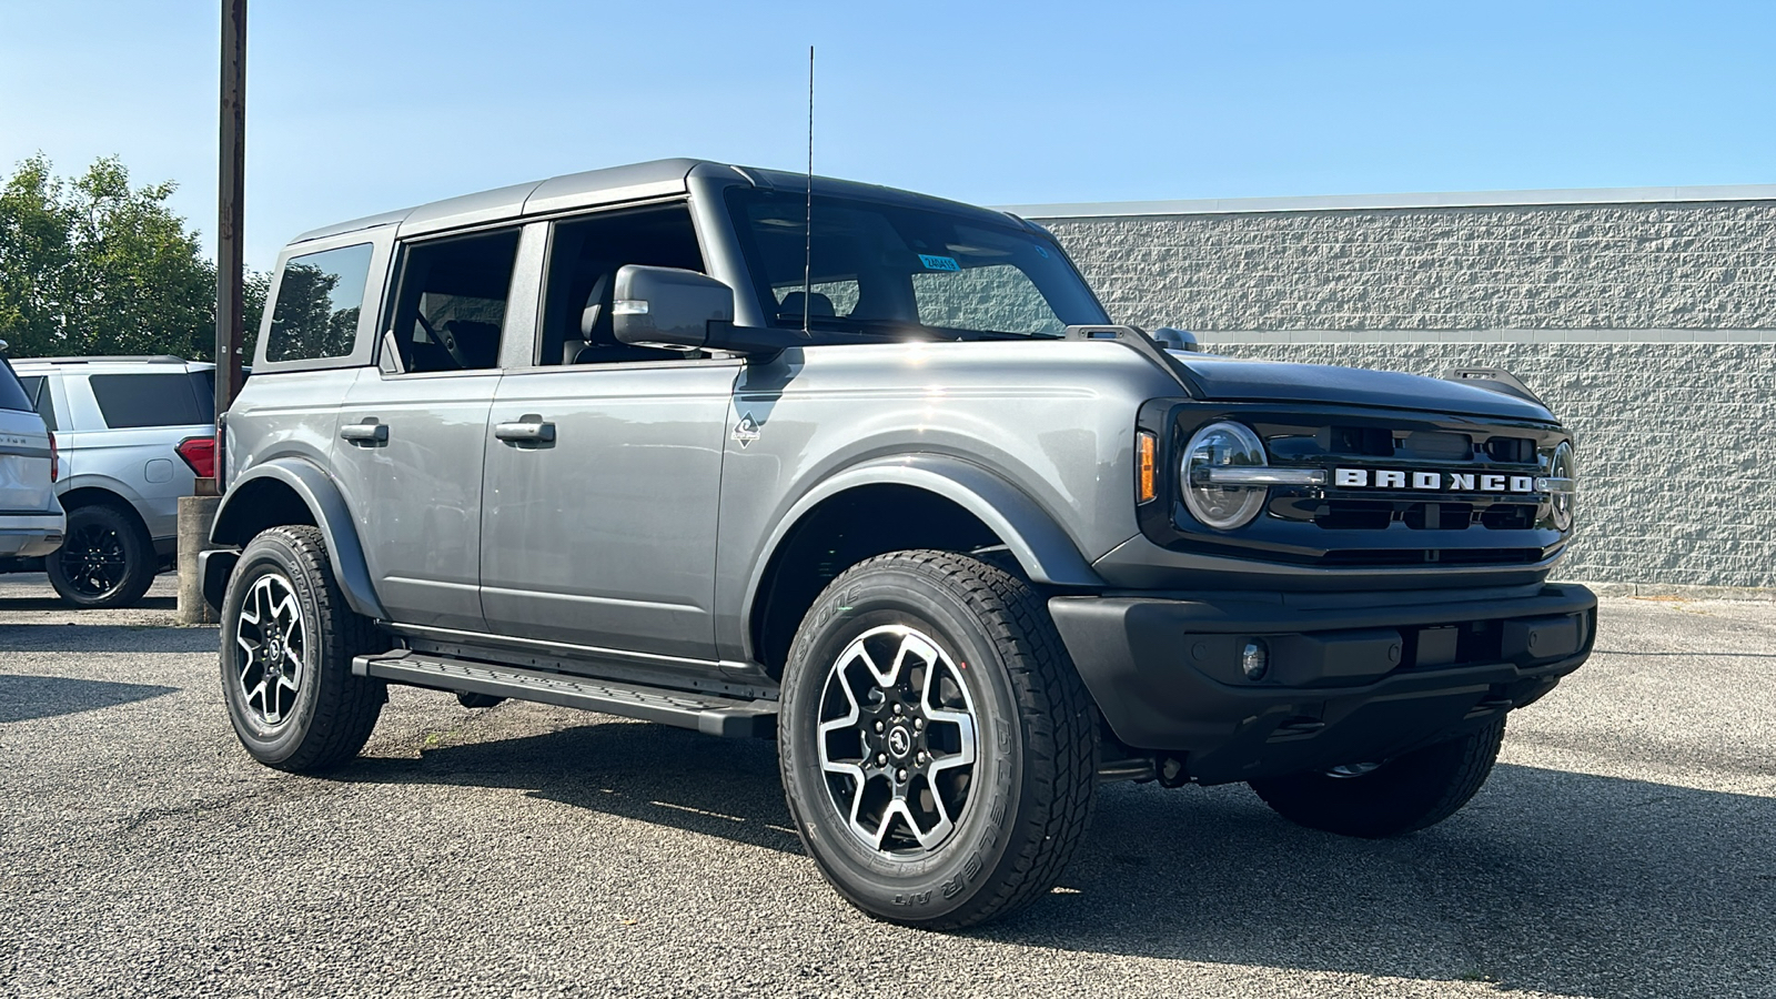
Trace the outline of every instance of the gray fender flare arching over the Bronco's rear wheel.
<instances>
[{"instance_id":1,"label":"gray fender flare arching over the Bronco's rear wheel","mask_svg":"<svg viewBox=\"0 0 1776 999\"><path fill-rule=\"evenodd\" d=\"M332 560L334 579L339 583L339 592L345 594L345 603L364 617L387 620L389 613L382 608L382 601L377 599L377 588L369 579L369 563L364 560L364 546L357 539L352 510L345 505L345 496L332 476L307 459L281 457L259 462L234 482L229 482L227 494L222 496L222 507L217 508L217 519L210 526L210 544L238 549L252 540L250 537L243 537L254 523L250 503L240 500L243 496L250 498L254 491L247 489L247 485L259 480L275 480L289 487L309 508L314 526L320 528L321 539L327 542L327 556ZM211 592L213 579L210 576L220 572L220 585L215 587L220 597L233 567L233 558L206 558L204 594ZM215 603L220 604L220 599Z\"/></svg>"}]
</instances>

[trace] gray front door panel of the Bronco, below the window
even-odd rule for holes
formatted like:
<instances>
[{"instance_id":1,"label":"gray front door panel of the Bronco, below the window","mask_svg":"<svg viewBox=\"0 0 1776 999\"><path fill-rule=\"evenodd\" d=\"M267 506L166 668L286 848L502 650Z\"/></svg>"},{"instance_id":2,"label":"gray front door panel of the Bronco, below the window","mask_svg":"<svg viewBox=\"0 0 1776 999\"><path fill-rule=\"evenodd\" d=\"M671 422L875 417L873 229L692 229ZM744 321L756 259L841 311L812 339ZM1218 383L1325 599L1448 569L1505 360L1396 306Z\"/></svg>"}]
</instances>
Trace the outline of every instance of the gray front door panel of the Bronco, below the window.
<instances>
[{"instance_id":1,"label":"gray front door panel of the Bronco, below the window","mask_svg":"<svg viewBox=\"0 0 1776 999\"><path fill-rule=\"evenodd\" d=\"M481 496L488 627L707 672L737 373L733 361L588 363L501 380Z\"/></svg>"}]
</instances>

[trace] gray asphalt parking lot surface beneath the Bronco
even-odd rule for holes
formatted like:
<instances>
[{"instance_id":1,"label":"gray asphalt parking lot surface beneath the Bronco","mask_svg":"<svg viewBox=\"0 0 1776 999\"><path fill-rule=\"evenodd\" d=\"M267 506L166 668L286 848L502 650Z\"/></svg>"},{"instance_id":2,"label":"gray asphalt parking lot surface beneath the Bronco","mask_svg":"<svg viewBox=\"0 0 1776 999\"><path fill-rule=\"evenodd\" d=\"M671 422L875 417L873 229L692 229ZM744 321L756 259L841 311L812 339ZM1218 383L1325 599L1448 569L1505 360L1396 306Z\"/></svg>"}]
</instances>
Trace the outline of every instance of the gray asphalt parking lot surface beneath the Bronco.
<instances>
[{"instance_id":1,"label":"gray asphalt parking lot surface beneath the Bronco","mask_svg":"<svg viewBox=\"0 0 1776 999\"><path fill-rule=\"evenodd\" d=\"M1106 786L1053 896L936 935L821 882L764 741L396 688L258 766L170 592L0 578L4 997L1776 995L1776 604L1606 601L1431 830Z\"/></svg>"}]
</instances>

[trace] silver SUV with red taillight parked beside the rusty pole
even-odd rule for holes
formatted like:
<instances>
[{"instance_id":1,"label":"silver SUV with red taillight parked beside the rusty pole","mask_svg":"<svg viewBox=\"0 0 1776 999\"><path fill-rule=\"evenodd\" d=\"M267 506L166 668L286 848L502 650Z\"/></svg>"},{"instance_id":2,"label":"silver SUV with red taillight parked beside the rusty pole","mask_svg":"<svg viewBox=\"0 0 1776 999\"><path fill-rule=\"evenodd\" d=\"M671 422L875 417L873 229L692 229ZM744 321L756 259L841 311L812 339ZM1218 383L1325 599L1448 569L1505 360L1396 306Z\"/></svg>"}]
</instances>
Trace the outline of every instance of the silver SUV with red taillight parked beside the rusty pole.
<instances>
[{"instance_id":1,"label":"silver SUV with red taillight parked beside the rusty pole","mask_svg":"<svg viewBox=\"0 0 1776 999\"><path fill-rule=\"evenodd\" d=\"M179 496L215 471L215 364L41 357L14 370L60 457L67 535L43 560L50 583L73 606L137 603L178 555Z\"/></svg>"}]
</instances>

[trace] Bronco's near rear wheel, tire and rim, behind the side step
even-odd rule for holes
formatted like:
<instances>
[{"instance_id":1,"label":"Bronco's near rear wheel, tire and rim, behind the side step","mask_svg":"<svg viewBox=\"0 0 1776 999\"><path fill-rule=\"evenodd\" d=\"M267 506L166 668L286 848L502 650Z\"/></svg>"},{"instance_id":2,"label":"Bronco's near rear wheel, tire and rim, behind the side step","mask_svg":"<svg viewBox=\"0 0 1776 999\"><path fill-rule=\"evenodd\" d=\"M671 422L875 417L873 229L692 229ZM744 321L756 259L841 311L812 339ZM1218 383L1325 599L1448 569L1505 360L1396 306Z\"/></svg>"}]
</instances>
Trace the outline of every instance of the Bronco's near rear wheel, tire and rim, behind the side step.
<instances>
[{"instance_id":1,"label":"Bronco's near rear wheel, tire and rim, behind the side step","mask_svg":"<svg viewBox=\"0 0 1776 999\"><path fill-rule=\"evenodd\" d=\"M352 759L387 699L352 658L385 647L339 594L318 528L261 531L222 597L222 699L240 743L297 773Z\"/></svg>"}]
</instances>

